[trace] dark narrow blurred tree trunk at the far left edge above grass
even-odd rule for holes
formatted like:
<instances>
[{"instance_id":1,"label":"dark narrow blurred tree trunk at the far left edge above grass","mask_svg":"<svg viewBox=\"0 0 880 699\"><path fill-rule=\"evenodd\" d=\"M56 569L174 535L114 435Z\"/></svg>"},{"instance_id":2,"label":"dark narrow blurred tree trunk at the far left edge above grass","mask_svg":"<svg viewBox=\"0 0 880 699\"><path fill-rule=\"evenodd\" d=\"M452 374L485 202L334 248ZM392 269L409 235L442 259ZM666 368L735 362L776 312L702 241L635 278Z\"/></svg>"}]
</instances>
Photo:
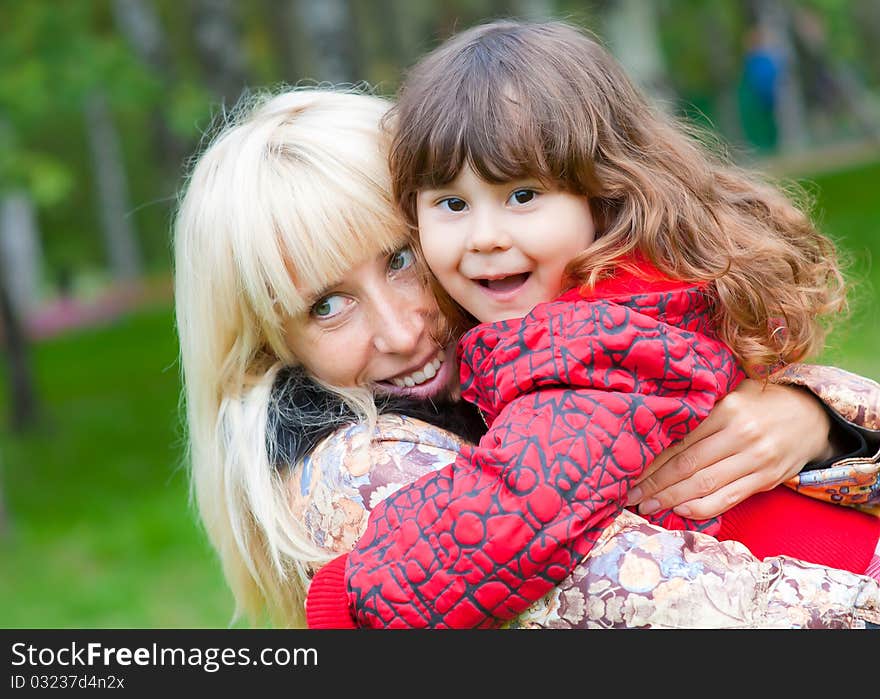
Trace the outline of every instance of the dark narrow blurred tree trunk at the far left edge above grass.
<instances>
[{"instance_id":1,"label":"dark narrow blurred tree trunk at the far left edge above grass","mask_svg":"<svg viewBox=\"0 0 880 699\"><path fill-rule=\"evenodd\" d=\"M4 209L10 195L4 196ZM15 225L4 216L3 226ZM4 231L4 234L6 231ZM0 337L5 349L9 377L9 418L12 429L20 432L37 421L37 394L31 373L27 337L9 291L9 264L0 246Z\"/></svg>"}]
</instances>

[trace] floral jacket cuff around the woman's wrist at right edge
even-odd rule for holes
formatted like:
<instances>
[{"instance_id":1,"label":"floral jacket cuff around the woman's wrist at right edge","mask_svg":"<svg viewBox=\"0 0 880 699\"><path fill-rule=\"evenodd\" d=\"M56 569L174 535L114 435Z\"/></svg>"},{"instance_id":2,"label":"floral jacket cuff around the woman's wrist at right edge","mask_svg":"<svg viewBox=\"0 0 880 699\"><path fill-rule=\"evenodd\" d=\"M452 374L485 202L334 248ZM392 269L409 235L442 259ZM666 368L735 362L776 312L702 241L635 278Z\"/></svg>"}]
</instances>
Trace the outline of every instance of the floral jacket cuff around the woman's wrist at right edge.
<instances>
[{"instance_id":1,"label":"floral jacket cuff around the woman's wrist at right edge","mask_svg":"<svg viewBox=\"0 0 880 699\"><path fill-rule=\"evenodd\" d=\"M822 401L844 453L809 464L786 485L799 493L880 516L880 384L843 369L791 364L774 383L802 386Z\"/></svg>"}]
</instances>

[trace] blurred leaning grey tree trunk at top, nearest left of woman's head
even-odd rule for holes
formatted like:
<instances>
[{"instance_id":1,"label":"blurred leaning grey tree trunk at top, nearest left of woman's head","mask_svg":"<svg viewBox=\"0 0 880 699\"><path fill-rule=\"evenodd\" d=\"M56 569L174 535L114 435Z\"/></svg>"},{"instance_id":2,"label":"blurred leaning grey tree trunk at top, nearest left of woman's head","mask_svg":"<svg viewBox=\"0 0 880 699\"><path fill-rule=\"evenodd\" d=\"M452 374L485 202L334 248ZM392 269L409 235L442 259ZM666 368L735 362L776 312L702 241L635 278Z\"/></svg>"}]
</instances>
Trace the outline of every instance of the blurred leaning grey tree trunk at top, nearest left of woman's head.
<instances>
[{"instance_id":1,"label":"blurred leaning grey tree trunk at top, nearest left of woman's head","mask_svg":"<svg viewBox=\"0 0 880 699\"><path fill-rule=\"evenodd\" d=\"M113 15L119 32L138 58L170 89L177 82L177 76L168 58L168 40L153 0L114 0ZM173 192L187 146L168 128L160 108L153 109L150 125L166 186Z\"/></svg>"}]
</instances>

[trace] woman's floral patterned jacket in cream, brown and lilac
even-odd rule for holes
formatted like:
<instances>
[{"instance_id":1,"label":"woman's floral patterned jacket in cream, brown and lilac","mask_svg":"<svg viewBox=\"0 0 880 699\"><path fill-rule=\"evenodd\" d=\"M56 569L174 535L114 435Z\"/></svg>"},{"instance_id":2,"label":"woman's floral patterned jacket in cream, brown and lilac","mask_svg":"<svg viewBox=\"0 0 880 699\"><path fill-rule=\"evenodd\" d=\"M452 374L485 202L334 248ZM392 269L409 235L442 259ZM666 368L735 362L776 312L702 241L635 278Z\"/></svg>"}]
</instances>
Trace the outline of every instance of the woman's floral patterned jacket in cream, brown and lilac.
<instances>
[{"instance_id":1,"label":"woman's floral patterned jacket in cream, brown and lilac","mask_svg":"<svg viewBox=\"0 0 880 699\"><path fill-rule=\"evenodd\" d=\"M839 419L874 445L869 448L873 456L805 471L788 485L876 511L880 453L873 440L880 435L880 386L834 372L793 366L778 381L813 390ZM461 446L458 437L412 418L382 416L374 433L353 425L325 439L293 471L288 482L291 506L329 555L347 552L376 503L446 466ZM669 531L624 511L560 585L507 626L865 628L878 624L880 585L871 578L784 556L760 561L736 542Z\"/></svg>"}]
</instances>

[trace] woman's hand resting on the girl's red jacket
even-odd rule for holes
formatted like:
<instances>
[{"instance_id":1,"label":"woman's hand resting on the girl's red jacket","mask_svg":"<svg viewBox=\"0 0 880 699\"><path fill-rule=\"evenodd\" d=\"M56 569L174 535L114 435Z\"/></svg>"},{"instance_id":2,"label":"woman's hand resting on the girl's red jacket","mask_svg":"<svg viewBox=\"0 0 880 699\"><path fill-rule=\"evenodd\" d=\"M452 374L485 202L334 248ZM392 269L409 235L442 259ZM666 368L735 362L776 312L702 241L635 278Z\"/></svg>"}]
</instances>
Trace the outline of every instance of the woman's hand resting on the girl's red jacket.
<instances>
[{"instance_id":1,"label":"woman's hand resting on the girl's red jacket","mask_svg":"<svg viewBox=\"0 0 880 699\"><path fill-rule=\"evenodd\" d=\"M720 515L833 455L831 418L809 391L747 379L697 429L661 452L630 491L646 515Z\"/></svg>"}]
</instances>

